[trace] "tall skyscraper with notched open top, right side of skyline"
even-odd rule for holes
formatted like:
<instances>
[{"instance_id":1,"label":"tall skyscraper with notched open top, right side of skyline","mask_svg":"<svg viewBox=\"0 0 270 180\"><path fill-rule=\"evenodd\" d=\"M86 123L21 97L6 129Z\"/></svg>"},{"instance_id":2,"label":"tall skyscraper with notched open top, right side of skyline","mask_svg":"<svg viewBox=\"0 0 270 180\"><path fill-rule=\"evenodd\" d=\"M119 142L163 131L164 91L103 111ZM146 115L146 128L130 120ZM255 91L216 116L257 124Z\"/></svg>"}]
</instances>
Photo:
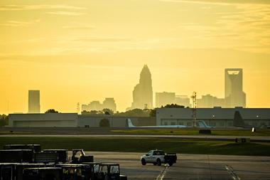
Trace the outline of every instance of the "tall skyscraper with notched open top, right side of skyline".
<instances>
[{"instance_id":1,"label":"tall skyscraper with notched open top, right side of skyline","mask_svg":"<svg viewBox=\"0 0 270 180\"><path fill-rule=\"evenodd\" d=\"M225 107L246 107L242 69L225 69Z\"/></svg>"}]
</instances>

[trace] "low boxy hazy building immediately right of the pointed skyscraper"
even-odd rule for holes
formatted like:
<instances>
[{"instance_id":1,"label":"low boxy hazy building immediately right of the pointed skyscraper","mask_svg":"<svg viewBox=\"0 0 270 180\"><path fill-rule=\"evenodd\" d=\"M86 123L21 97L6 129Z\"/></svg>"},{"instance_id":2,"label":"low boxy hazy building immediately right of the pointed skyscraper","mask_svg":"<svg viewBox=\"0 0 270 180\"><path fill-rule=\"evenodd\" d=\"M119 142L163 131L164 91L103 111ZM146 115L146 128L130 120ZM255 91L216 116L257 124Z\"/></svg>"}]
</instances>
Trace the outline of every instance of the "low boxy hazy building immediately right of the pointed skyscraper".
<instances>
[{"instance_id":1,"label":"low boxy hazy building immediately right of the pointed skyscraper","mask_svg":"<svg viewBox=\"0 0 270 180\"><path fill-rule=\"evenodd\" d=\"M175 92L156 92L156 107L171 105L175 102Z\"/></svg>"}]
</instances>

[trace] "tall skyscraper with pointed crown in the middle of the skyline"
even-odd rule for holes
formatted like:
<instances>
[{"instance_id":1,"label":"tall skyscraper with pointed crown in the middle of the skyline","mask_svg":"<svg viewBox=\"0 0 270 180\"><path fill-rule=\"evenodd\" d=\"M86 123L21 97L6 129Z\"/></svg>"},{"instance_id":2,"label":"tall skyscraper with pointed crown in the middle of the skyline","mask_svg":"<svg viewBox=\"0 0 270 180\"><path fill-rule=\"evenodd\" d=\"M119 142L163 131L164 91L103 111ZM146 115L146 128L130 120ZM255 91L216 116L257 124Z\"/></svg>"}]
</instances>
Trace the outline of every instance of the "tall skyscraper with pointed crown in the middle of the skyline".
<instances>
[{"instance_id":1,"label":"tall skyscraper with pointed crown in the middle of the skyline","mask_svg":"<svg viewBox=\"0 0 270 180\"><path fill-rule=\"evenodd\" d=\"M151 73L147 65L141 70L139 84L133 90L133 102L129 109L153 108L153 88Z\"/></svg>"}]
</instances>

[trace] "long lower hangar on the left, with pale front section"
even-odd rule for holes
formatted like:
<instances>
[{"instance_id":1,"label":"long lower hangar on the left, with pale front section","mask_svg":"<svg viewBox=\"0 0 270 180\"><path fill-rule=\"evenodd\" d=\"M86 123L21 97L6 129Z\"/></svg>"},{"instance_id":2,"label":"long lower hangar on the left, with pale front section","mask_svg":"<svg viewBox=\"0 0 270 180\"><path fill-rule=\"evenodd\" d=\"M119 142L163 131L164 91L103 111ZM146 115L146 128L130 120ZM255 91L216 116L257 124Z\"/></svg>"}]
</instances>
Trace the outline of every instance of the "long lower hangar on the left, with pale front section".
<instances>
[{"instance_id":1,"label":"long lower hangar on the left, with pale front section","mask_svg":"<svg viewBox=\"0 0 270 180\"><path fill-rule=\"evenodd\" d=\"M155 117L125 117L114 115L77 115L77 113L9 114L9 127L100 127L107 120L109 127L127 127L126 119L134 125L156 125Z\"/></svg>"}]
</instances>

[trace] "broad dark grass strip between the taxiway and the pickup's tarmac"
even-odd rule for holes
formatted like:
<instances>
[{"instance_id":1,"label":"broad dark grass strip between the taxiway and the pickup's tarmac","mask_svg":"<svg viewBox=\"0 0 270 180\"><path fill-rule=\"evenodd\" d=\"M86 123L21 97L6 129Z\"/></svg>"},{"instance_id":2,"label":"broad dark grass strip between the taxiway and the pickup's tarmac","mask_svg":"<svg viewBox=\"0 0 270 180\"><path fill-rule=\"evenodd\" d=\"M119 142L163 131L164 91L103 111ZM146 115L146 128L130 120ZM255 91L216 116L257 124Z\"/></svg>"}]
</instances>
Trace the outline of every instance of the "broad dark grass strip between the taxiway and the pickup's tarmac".
<instances>
[{"instance_id":1,"label":"broad dark grass strip between the taxiway and the pickup's tarmac","mask_svg":"<svg viewBox=\"0 0 270 180\"><path fill-rule=\"evenodd\" d=\"M184 154L226 154L270 156L270 142L237 144L233 141L176 138L93 138L93 137L0 137L4 144L41 144L43 149L77 149L103 152L148 152L163 149Z\"/></svg>"}]
</instances>

